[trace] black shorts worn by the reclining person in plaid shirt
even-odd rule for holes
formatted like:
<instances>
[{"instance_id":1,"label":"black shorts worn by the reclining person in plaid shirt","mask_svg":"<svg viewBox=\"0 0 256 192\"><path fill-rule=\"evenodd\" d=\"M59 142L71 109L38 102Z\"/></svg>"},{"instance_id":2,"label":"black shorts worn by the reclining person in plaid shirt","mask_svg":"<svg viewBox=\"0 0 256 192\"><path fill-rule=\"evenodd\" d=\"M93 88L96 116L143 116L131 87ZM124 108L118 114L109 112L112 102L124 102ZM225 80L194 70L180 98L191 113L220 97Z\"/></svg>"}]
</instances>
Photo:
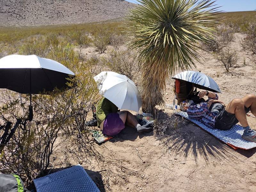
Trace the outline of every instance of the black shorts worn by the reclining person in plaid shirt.
<instances>
[{"instance_id":1,"label":"black shorts worn by the reclining person in plaid shirt","mask_svg":"<svg viewBox=\"0 0 256 192\"><path fill-rule=\"evenodd\" d=\"M244 107L245 113L250 111L250 108ZM215 129L229 130L239 121L235 114L228 113L223 106L222 111L215 117Z\"/></svg>"}]
</instances>

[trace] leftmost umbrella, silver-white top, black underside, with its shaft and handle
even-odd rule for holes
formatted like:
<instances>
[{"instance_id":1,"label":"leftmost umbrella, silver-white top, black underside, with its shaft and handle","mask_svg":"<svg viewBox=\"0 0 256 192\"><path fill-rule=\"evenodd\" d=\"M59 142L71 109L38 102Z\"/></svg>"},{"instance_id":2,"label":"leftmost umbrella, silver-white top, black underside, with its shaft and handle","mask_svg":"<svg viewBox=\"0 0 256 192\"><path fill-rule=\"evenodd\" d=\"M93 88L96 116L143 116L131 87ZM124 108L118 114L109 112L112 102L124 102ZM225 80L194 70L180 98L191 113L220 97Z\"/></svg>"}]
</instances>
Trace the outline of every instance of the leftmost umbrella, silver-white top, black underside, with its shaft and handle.
<instances>
[{"instance_id":1,"label":"leftmost umbrella, silver-white top, black underside, with its shaft and handle","mask_svg":"<svg viewBox=\"0 0 256 192\"><path fill-rule=\"evenodd\" d=\"M30 94L29 112L32 112L31 94L69 88L70 76L75 74L64 65L36 55L9 55L0 59L0 88ZM32 120L31 116L29 119Z\"/></svg>"}]
</instances>

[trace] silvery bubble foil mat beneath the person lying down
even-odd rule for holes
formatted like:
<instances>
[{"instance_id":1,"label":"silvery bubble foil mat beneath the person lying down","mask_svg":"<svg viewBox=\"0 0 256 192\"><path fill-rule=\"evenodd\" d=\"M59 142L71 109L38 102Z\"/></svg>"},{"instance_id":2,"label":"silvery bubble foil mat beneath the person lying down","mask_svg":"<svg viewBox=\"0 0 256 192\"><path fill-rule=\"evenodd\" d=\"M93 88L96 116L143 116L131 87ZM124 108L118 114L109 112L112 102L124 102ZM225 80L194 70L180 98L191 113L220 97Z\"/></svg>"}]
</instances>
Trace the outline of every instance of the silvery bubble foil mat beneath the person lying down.
<instances>
[{"instance_id":1,"label":"silvery bubble foil mat beneath the person lying down","mask_svg":"<svg viewBox=\"0 0 256 192\"><path fill-rule=\"evenodd\" d=\"M219 140L223 141L224 143L228 144L230 147L234 149L237 149L237 148L251 149L256 147L256 143L242 139L244 129L240 125L235 125L230 130L223 131L219 129L208 128L205 124L201 123L200 121L197 121L193 118L189 118L186 112L183 112L183 111L176 112L176 115L183 116L189 121L197 124L199 127L211 133L212 135L217 137Z\"/></svg>"}]
</instances>

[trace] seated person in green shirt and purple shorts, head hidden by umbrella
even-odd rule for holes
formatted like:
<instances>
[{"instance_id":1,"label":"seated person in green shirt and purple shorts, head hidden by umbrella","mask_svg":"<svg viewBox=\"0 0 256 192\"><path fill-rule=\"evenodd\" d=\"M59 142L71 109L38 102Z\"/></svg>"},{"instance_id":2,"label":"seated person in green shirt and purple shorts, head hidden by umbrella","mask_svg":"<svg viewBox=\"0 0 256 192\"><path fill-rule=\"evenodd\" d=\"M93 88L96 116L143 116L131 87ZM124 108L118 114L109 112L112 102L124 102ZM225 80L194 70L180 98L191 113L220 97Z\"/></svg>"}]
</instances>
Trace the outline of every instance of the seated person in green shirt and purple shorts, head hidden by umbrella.
<instances>
[{"instance_id":1,"label":"seated person in green shirt and purple shorts, head hidden by umbrella","mask_svg":"<svg viewBox=\"0 0 256 192\"><path fill-rule=\"evenodd\" d=\"M103 134L108 136L115 136L120 133L125 124L134 127L138 132L153 131L152 124L141 126L129 111L118 111L116 105L104 97L97 103L96 116L98 127Z\"/></svg>"}]
</instances>

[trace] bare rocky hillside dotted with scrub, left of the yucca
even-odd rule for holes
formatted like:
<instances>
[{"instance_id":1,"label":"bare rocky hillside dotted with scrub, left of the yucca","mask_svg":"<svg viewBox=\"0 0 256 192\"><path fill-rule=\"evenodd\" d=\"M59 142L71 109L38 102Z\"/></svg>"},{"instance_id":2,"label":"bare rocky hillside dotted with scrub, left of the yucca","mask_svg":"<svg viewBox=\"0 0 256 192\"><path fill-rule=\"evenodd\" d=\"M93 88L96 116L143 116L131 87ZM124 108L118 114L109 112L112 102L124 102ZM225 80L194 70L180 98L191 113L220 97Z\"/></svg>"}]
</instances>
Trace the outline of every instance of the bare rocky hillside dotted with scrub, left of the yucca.
<instances>
[{"instance_id":1,"label":"bare rocky hillside dotted with scrub, left of the yucca","mask_svg":"<svg viewBox=\"0 0 256 192\"><path fill-rule=\"evenodd\" d=\"M123 17L124 0L1 0L0 26L80 24Z\"/></svg>"}]
</instances>

